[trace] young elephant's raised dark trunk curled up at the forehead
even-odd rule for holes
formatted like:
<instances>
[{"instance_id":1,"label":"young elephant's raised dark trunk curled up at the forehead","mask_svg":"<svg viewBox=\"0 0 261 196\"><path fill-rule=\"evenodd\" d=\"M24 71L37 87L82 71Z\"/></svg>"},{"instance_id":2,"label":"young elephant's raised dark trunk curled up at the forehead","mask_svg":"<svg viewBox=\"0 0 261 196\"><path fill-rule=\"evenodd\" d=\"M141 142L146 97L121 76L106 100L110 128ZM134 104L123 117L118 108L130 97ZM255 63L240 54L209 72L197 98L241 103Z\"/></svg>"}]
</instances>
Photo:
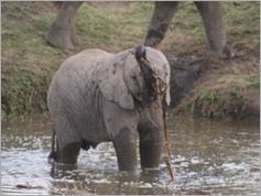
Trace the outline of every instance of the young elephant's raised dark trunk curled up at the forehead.
<instances>
[{"instance_id":1,"label":"young elephant's raised dark trunk curled up at the forehead","mask_svg":"<svg viewBox=\"0 0 261 196\"><path fill-rule=\"evenodd\" d=\"M157 94L154 89L154 84L156 83L156 78L154 77L153 68L151 67L149 61L145 56L145 46L138 45L135 47L135 58L140 65L141 73L144 78L145 89L144 89L144 101L153 101L157 99Z\"/></svg>"}]
</instances>

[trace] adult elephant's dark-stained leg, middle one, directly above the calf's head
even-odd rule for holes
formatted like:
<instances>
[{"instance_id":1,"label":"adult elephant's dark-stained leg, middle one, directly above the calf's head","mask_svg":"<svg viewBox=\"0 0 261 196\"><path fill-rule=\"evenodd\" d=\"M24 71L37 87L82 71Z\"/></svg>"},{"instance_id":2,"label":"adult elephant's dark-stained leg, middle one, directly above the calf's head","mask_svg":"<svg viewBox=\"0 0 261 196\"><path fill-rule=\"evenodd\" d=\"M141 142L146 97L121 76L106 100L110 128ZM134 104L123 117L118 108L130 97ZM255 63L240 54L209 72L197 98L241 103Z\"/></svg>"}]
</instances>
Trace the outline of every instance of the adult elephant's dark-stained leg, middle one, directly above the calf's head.
<instances>
[{"instance_id":1,"label":"adult elephant's dark-stained leg, middle one, directly above the calf's head","mask_svg":"<svg viewBox=\"0 0 261 196\"><path fill-rule=\"evenodd\" d=\"M162 42L177 6L177 1L155 2L144 45L156 47Z\"/></svg>"}]
</instances>

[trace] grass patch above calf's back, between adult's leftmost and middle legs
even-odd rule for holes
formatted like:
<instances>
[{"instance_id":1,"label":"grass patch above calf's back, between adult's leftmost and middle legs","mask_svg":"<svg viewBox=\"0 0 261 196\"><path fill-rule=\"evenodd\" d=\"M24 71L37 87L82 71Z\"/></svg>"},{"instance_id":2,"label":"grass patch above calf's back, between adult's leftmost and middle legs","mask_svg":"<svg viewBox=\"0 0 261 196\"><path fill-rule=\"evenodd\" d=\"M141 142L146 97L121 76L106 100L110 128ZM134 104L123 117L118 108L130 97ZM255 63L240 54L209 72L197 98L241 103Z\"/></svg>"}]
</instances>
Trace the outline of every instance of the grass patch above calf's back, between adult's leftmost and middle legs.
<instances>
[{"instance_id":1,"label":"grass patch above calf's back, between adult's leftmost and middle legs","mask_svg":"<svg viewBox=\"0 0 261 196\"><path fill-rule=\"evenodd\" d=\"M84 4L77 18L77 30L86 47L101 47L118 52L142 43L152 10L152 3L127 3L122 10L113 11ZM129 9L130 8L130 9Z\"/></svg>"}]
</instances>

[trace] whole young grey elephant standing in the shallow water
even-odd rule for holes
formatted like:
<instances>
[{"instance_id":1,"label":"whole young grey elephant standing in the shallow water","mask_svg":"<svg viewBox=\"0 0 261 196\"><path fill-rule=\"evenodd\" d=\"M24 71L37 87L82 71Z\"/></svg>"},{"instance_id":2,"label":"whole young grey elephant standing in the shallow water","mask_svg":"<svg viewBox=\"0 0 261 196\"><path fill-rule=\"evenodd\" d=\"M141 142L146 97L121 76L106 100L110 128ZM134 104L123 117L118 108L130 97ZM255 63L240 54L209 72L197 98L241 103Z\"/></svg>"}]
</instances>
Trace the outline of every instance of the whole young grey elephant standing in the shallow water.
<instances>
[{"instance_id":1,"label":"whole young grey elephant standing in the shallow water","mask_svg":"<svg viewBox=\"0 0 261 196\"><path fill-rule=\"evenodd\" d=\"M157 168L171 69L142 44L112 54L98 48L67 58L53 77L47 106L53 124L50 161L76 165L79 150L112 142L120 171Z\"/></svg>"}]
</instances>

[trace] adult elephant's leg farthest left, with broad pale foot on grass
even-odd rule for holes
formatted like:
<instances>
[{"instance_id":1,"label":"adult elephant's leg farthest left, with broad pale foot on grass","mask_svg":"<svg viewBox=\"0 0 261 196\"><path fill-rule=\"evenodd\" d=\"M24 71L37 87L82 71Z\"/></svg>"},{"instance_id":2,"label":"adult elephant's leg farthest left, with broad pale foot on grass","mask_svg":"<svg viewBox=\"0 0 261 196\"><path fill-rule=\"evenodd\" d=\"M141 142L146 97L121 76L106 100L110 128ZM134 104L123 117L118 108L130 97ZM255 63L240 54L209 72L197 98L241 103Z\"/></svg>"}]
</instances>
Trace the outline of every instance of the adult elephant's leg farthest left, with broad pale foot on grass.
<instances>
[{"instance_id":1,"label":"adult elephant's leg farthest left, with broad pale foot on grass","mask_svg":"<svg viewBox=\"0 0 261 196\"><path fill-rule=\"evenodd\" d=\"M76 35L74 18L80 4L83 1L63 2L45 36L51 45L58 48L74 48L74 45L79 44L80 40Z\"/></svg>"}]
</instances>

